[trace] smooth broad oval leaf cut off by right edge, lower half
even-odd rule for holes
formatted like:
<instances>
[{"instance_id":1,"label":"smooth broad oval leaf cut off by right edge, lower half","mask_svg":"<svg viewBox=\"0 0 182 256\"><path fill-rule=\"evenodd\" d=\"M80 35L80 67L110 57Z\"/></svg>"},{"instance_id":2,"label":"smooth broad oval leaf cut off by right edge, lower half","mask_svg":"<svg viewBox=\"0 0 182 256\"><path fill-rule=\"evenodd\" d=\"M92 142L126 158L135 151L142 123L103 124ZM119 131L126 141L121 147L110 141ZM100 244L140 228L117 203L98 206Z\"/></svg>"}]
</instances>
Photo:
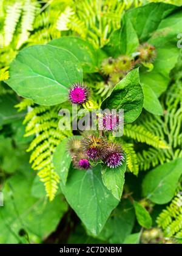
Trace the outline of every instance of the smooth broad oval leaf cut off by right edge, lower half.
<instances>
[{"instance_id":1,"label":"smooth broad oval leaf cut off by right edge, lower half","mask_svg":"<svg viewBox=\"0 0 182 256\"><path fill-rule=\"evenodd\" d=\"M181 175L182 159L154 168L143 180L143 195L155 204L167 204L175 195Z\"/></svg>"}]
</instances>

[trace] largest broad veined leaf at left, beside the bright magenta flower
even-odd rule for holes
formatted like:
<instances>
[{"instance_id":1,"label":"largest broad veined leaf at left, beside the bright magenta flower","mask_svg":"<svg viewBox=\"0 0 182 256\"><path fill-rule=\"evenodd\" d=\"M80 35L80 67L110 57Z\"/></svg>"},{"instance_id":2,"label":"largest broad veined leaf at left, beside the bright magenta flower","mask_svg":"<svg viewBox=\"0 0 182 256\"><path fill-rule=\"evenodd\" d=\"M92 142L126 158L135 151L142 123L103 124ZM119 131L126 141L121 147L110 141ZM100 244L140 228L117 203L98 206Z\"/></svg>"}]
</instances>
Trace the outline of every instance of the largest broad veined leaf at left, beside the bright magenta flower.
<instances>
[{"instance_id":1,"label":"largest broad veined leaf at left, beside the bright magenta flower","mask_svg":"<svg viewBox=\"0 0 182 256\"><path fill-rule=\"evenodd\" d=\"M6 83L22 97L40 105L56 105L68 99L68 89L83 80L82 67L66 49L32 46L19 52L10 65Z\"/></svg>"}]
</instances>

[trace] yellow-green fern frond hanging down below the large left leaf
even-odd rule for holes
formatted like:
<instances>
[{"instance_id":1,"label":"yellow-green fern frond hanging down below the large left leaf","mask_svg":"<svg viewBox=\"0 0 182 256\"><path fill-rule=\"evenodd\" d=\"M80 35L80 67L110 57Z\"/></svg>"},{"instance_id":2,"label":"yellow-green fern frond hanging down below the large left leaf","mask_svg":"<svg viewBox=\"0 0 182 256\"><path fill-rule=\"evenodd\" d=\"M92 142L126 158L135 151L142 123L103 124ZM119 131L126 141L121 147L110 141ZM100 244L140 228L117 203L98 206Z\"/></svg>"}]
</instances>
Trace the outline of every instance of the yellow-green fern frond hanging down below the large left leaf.
<instances>
[{"instance_id":1,"label":"yellow-green fern frond hanging down below the large left leaf","mask_svg":"<svg viewBox=\"0 0 182 256\"><path fill-rule=\"evenodd\" d=\"M29 100L23 100L16 107L24 109L29 105ZM55 148L67 136L70 131L60 131L58 128L59 106L34 106L31 103L29 112L24 119L25 136L35 135L27 151L32 151L30 163L32 168L38 171L38 176L44 182L45 190L50 201L56 195L59 176L53 167L53 153Z\"/></svg>"}]
</instances>

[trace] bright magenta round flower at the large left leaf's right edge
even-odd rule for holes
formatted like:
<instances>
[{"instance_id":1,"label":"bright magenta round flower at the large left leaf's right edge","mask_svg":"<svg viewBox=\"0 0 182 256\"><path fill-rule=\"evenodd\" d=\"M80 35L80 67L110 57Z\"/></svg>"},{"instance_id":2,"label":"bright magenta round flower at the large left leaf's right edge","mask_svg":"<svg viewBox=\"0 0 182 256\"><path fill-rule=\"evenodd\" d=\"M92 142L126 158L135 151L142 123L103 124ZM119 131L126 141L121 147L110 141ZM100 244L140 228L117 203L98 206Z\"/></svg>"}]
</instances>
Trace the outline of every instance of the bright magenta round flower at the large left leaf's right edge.
<instances>
[{"instance_id":1,"label":"bright magenta round flower at the large left leaf's right edge","mask_svg":"<svg viewBox=\"0 0 182 256\"><path fill-rule=\"evenodd\" d=\"M88 97L89 89L80 83L74 84L69 90L69 99L73 104L83 104Z\"/></svg>"}]
</instances>

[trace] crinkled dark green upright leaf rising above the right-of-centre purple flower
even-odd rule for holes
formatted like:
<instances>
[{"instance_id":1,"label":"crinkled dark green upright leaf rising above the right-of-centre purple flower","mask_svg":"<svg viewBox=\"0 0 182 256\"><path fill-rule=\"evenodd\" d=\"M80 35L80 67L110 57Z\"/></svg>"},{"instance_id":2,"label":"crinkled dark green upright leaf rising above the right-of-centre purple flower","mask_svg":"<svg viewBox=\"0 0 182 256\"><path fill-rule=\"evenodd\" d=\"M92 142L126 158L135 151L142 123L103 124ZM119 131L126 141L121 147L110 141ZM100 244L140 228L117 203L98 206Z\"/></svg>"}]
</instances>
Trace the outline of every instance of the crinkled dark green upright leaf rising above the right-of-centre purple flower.
<instances>
[{"instance_id":1,"label":"crinkled dark green upright leaf rising above the right-of-centre purple flower","mask_svg":"<svg viewBox=\"0 0 182 256\"><path fill-rule=\"evenodd\" d=\"M143 108L143 90L138 69L130 71L107 97L101 109L124 109L124 122L131 123L140 115Z\"/></svg>"}]
</instances>

